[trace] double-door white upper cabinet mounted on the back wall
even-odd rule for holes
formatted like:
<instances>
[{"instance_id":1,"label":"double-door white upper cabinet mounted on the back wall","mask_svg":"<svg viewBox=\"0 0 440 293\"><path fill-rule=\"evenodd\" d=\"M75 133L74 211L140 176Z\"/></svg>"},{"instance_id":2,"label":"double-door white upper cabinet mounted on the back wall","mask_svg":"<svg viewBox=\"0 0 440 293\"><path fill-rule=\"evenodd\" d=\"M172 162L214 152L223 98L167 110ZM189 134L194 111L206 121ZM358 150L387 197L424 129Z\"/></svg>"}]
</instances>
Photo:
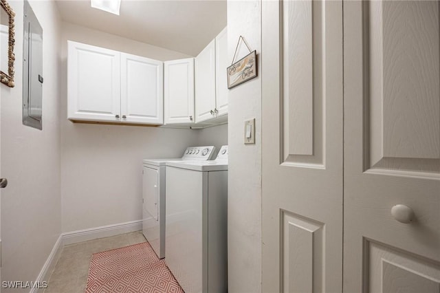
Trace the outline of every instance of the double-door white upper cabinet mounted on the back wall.
<instances>
[{"instance_id":1,"label":"double-door white upper cabinet mounted on the back wall","mask_svg":"<svg viewBox=\"0 0 440 293\"><path fill-rule=\"evenodd\" d=\"M67 118L163 123L162 61L67 43Z\"/></svg>"}]
</instances>

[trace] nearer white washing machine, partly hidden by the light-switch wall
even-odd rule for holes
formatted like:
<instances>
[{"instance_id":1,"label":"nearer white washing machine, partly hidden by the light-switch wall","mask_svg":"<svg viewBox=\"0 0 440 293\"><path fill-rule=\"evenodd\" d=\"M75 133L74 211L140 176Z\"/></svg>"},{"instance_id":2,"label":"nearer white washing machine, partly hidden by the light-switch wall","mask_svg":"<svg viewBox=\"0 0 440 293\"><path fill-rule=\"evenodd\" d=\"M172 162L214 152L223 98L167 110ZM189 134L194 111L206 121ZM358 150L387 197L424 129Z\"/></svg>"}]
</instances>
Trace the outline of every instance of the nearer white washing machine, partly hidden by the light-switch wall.
<instances>
[{"instance_id":1,"label":"nearer white washing machine, partly hidden by the light-switch wall","mask_svg":"<svg viewBox=\"0 0 440 293\"><path fill-rule=\"evenodd\" d=\"M166 264L186 293L228 291L228 146L166 162Z\"/></svg>"}]
</instances>

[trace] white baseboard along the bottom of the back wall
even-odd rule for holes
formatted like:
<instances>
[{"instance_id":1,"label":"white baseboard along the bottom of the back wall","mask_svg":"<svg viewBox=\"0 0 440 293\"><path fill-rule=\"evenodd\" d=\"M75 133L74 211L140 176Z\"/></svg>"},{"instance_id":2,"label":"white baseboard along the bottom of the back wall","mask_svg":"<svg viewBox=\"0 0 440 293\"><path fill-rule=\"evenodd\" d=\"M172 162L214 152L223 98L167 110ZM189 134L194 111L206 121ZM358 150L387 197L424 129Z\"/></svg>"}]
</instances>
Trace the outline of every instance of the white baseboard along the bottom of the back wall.
<instances>
[{"instance_id":1,"label":"white baseboard along the bottom of the back wall","mask_svg":"<svg viewBox=\"0 0 440 293\"><path fill-rule=\"evenodd\" d=\"M73 243L89 241L104 237L111 237L129 232L142 230L142 220L127 221L125 223L89 228L84 230L65 232L63 236L63 244L69 245Z\"/></svg>"}]
</instances>

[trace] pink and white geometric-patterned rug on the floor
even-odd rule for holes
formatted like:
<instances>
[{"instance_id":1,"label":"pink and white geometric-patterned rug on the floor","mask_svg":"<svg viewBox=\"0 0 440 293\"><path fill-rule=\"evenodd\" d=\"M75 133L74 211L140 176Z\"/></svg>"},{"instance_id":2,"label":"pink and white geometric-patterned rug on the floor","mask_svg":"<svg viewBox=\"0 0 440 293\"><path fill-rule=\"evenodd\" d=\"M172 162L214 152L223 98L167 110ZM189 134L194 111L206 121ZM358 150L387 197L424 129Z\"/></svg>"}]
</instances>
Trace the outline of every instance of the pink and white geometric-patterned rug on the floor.
<instances>
[{"instance_id":1,"label":"pink and white geometric-patterned rug on the floor","mask_svg":"<svg viewBox=\"0 0 440 293\"><path fill-rule=\"evenodd\" d=\"M91 257L86 293L184 293L148 242L98 252Z\"/></svg>"}]
</instances>

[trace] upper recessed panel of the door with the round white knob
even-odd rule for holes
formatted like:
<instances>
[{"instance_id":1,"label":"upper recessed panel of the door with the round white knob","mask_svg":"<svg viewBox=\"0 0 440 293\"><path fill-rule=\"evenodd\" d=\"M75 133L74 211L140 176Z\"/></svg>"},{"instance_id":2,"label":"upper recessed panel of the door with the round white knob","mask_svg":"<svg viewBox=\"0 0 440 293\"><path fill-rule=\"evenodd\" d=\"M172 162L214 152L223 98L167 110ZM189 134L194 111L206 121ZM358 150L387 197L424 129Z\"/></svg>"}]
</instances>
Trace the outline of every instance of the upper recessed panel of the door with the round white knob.
<instances>
[{"instance_id":1,"label":"upper recessed panel of the door with the round white knob","mask_svg":"<svg viewBox=\"0 0 440 293\"><path fill-rule=\"evenodd\" d=\"M371 107L368 169L439 168L437 6L436 1L371 1L365 6L370 45L364 52L369 58Z\"/></svg>"}]
</instances>

